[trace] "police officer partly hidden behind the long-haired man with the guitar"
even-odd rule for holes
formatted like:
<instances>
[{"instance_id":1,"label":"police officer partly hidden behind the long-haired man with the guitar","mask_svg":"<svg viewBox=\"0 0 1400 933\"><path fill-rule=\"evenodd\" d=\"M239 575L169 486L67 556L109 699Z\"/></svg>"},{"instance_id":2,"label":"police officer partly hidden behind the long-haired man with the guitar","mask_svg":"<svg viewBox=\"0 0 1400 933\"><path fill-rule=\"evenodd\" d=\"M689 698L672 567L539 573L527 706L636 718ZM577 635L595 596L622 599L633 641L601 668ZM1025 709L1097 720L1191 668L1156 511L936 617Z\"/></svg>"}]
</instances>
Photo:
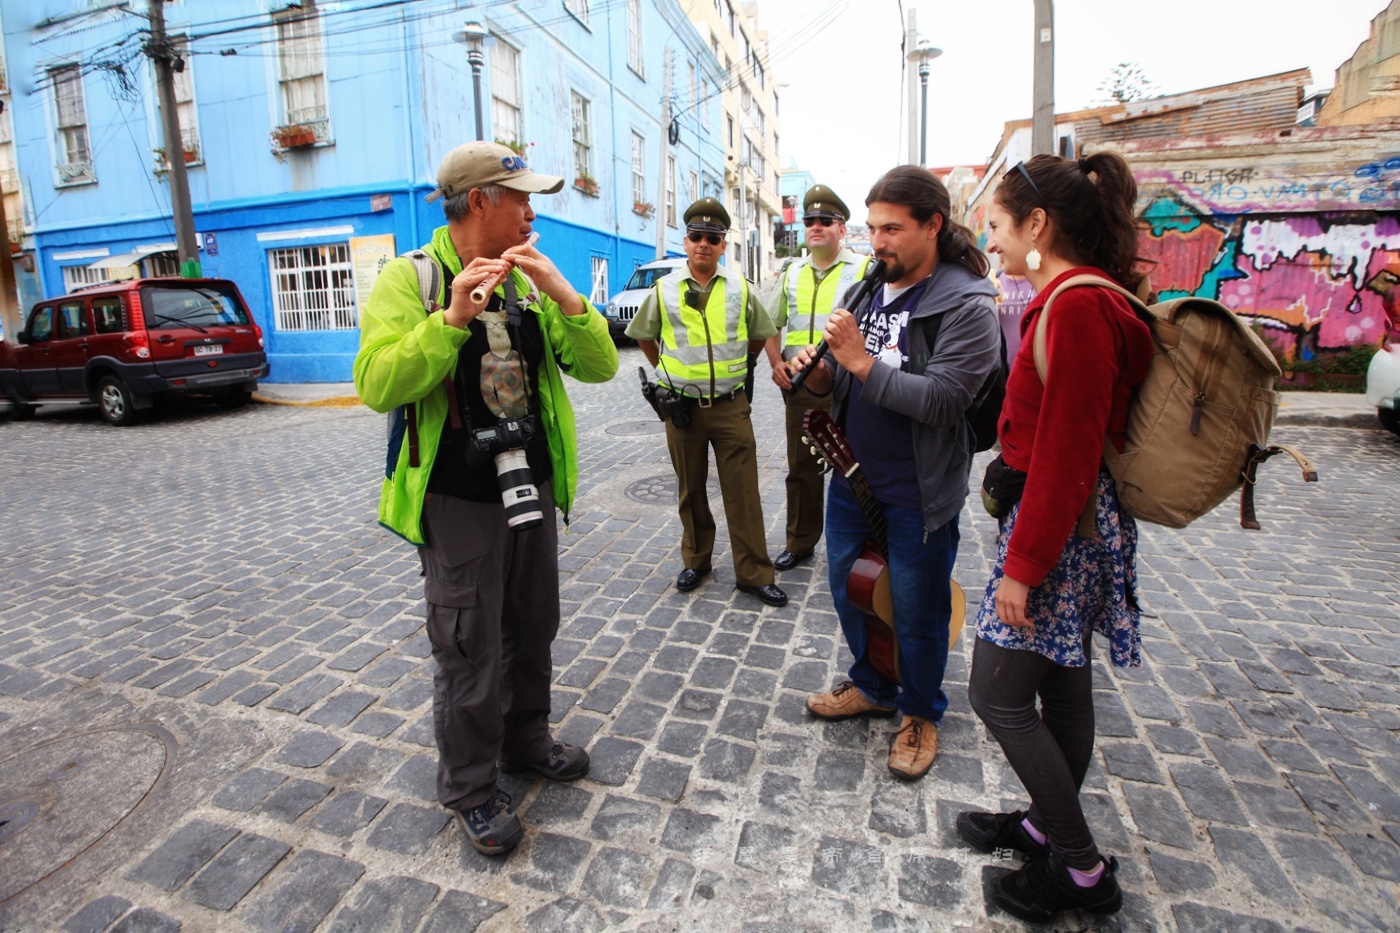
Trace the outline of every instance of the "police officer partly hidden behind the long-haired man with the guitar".
<instances>
[{"instance_id":1,"label":"police officer partly hidden behind the long-haired man with the guitar","mask_svg":"<svg viewBox=\"0 0 1400 933\"><path fill-rule=\"evenodd\" d=\"M851 212L826 185L813 185L802 199L802 223L811 255L788 265L778 283L773 319L783 333L767 342L773 381L787 403L788 436L788 527L787 548L773 560L778 570L791 570L812 556L822 539L820 462L802 441L802 416L808 409L832 408L830 392L813 395L806 385L792 391L792 377L783 360L822 340L826 318L847 289L865 276L869 256L857 256L841 247Z\"/></svg>"}]
</instances>

